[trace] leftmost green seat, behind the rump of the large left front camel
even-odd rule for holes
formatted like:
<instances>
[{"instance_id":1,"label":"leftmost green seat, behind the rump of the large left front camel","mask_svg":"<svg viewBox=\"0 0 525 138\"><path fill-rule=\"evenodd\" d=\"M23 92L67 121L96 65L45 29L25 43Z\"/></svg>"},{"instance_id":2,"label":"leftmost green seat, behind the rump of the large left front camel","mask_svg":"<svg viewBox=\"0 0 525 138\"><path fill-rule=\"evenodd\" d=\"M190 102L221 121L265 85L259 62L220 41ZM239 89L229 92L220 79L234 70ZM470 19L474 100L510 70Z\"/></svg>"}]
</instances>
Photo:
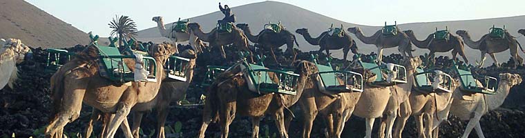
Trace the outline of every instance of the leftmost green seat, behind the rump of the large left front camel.
<instances>
[{"instance_id":1,"label":"leftmost green seat, behind the rump of the large left front camel","mask_svg":"<svg viewBox=\"0 0 525 138\"><path fill-rule=\"evenodd\" d=\"M54 48L48 48L46 52L48 52L48 59L46 61L46 69L44 72L47 73L57 72L61 66L63 66L67 61L71 60L72 55L75 55L75 53L70 53L68 50ZM66 61L61 59L66 59Z\"/></svg>"}]
</instances>

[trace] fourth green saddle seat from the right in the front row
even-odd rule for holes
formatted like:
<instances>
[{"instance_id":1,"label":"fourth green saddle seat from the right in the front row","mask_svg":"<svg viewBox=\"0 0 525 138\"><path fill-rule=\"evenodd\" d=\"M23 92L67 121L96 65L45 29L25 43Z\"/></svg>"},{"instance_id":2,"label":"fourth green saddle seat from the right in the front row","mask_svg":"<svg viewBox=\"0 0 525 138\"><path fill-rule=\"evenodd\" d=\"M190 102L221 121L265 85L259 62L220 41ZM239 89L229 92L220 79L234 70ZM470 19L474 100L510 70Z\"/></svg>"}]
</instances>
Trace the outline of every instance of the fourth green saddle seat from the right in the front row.
<instances>
[{"instance_id":1,"label":"fourth green saddle seat from the right in the front row","mask_svg":"<svg viewBox=\"0 0 525 138\"><path fill-rule=\"evenodd\" d=\"M318 69L318 76L321 79L318 84L320 84L321 91L363 92L363 75L347 70L334 70L329 58L327 58L327 65L321 65L317 62L317 57L317 55L312 55L312 62Z\"/></svg>"}]
</instances>

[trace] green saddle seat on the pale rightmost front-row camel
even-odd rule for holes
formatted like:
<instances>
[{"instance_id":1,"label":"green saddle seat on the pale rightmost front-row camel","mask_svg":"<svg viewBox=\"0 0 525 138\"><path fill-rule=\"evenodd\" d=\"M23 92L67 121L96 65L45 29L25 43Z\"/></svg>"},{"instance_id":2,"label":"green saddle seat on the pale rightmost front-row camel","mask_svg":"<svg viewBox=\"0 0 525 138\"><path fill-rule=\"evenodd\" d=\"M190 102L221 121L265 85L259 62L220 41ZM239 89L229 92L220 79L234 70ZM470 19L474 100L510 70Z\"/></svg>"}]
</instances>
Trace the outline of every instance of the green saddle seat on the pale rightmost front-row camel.
<instances>
[{"instance_id":1,"label":"green saddle seat on the pale rightmost front-row camel","mask_svg":"<svg viewBox=\"0 0 525 138\"><path fill-rule=\"evenodd\" d=\"M475 76L466 65L456 65L454 70L461 81L460 90L473 93L494 95L497 90L497 79L489 76ZM477 83L479 81L479 83Z\"/></svg>"}]
</instances>

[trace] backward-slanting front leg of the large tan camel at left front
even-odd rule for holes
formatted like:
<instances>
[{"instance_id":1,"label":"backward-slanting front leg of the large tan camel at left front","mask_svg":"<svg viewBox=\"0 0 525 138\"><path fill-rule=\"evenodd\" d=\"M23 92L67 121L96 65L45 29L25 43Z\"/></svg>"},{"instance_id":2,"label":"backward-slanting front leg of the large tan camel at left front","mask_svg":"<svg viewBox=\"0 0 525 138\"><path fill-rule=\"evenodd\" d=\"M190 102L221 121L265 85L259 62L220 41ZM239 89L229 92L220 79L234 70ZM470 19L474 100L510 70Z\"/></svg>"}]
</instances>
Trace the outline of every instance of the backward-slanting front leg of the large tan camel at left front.
<instances>
[{"instance_id":1,"label":"backward-slanting front leg of the large tan camel at left front","mask_svg":"<svg viewBox=\"0 0 525 138\"><path fill-rule=\"evenodd\" d=\"M122 124L122 121L126 119L129 112L131 112L131 108L137 102L137 97L135 96L136 96L136 92L135 90L133 90L132 87L124 91L121 101L117 103L117 112L115 112L115 118L113 118L109 122L108 135L106 135L105 137L107 138L115 137L115 133L117 132L118 126L120 126L120 124Z\"/></svg>"}]
</instances>

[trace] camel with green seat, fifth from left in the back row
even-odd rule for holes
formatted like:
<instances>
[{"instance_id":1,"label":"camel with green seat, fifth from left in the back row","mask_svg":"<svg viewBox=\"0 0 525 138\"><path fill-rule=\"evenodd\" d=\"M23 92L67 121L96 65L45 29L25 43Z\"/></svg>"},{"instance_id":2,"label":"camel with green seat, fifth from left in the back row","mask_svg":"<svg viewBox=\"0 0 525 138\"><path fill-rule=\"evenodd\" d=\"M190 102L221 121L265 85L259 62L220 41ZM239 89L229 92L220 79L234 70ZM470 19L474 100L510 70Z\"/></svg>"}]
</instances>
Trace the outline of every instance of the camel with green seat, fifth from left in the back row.
<instances>
[{"instance_id":1,"label":"camel with green seat, fifth from left in the back row","mask_svg":"<svg viewBox=\"0 0 525 138\"><path fill-rule=\"evenodd\" d=\"M397 35L394 36L383 35L381 30L377 30L377 32L370 37L365 37L363 31L358 27L348 28L347 30L348 32L356 34L357 39L363 41L363 43L374 44L377 47L378 61L383 59L384 48L397 47L397 50L401 52L403 58L407 59L408 57L412 57L412 51L414 51L412 50L412 43L410 43L410 39L408 38L407 34L405 34L405 32L401 32L399 28L397 28Z\"/></svg>"}]
</instances>

